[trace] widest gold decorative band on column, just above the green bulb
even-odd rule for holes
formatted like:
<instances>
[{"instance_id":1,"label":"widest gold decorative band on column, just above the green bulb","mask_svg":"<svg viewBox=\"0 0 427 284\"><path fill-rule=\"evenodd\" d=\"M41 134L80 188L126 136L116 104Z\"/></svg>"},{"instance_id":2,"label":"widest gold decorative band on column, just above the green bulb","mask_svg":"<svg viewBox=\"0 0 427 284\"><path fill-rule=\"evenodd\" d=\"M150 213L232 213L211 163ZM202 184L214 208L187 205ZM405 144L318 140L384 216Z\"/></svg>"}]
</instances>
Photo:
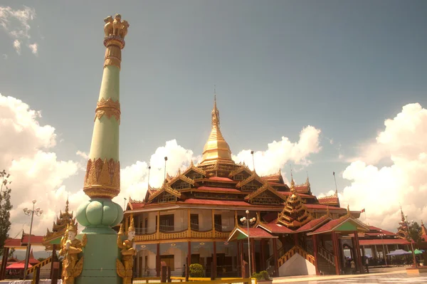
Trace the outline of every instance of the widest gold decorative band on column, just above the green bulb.
<instances>
[{"instance_id":1,"label":"widest gold decorative band on column, just above the green bulb","mask_svg":"<svg viewBox=\"0 0 427 284\"><path fill-rule=\"evenodd\" d=\"M120 193L120 162L114 159L89 159L83 191L91 199L110 198Z\"/></svg>"}]
</instances>

